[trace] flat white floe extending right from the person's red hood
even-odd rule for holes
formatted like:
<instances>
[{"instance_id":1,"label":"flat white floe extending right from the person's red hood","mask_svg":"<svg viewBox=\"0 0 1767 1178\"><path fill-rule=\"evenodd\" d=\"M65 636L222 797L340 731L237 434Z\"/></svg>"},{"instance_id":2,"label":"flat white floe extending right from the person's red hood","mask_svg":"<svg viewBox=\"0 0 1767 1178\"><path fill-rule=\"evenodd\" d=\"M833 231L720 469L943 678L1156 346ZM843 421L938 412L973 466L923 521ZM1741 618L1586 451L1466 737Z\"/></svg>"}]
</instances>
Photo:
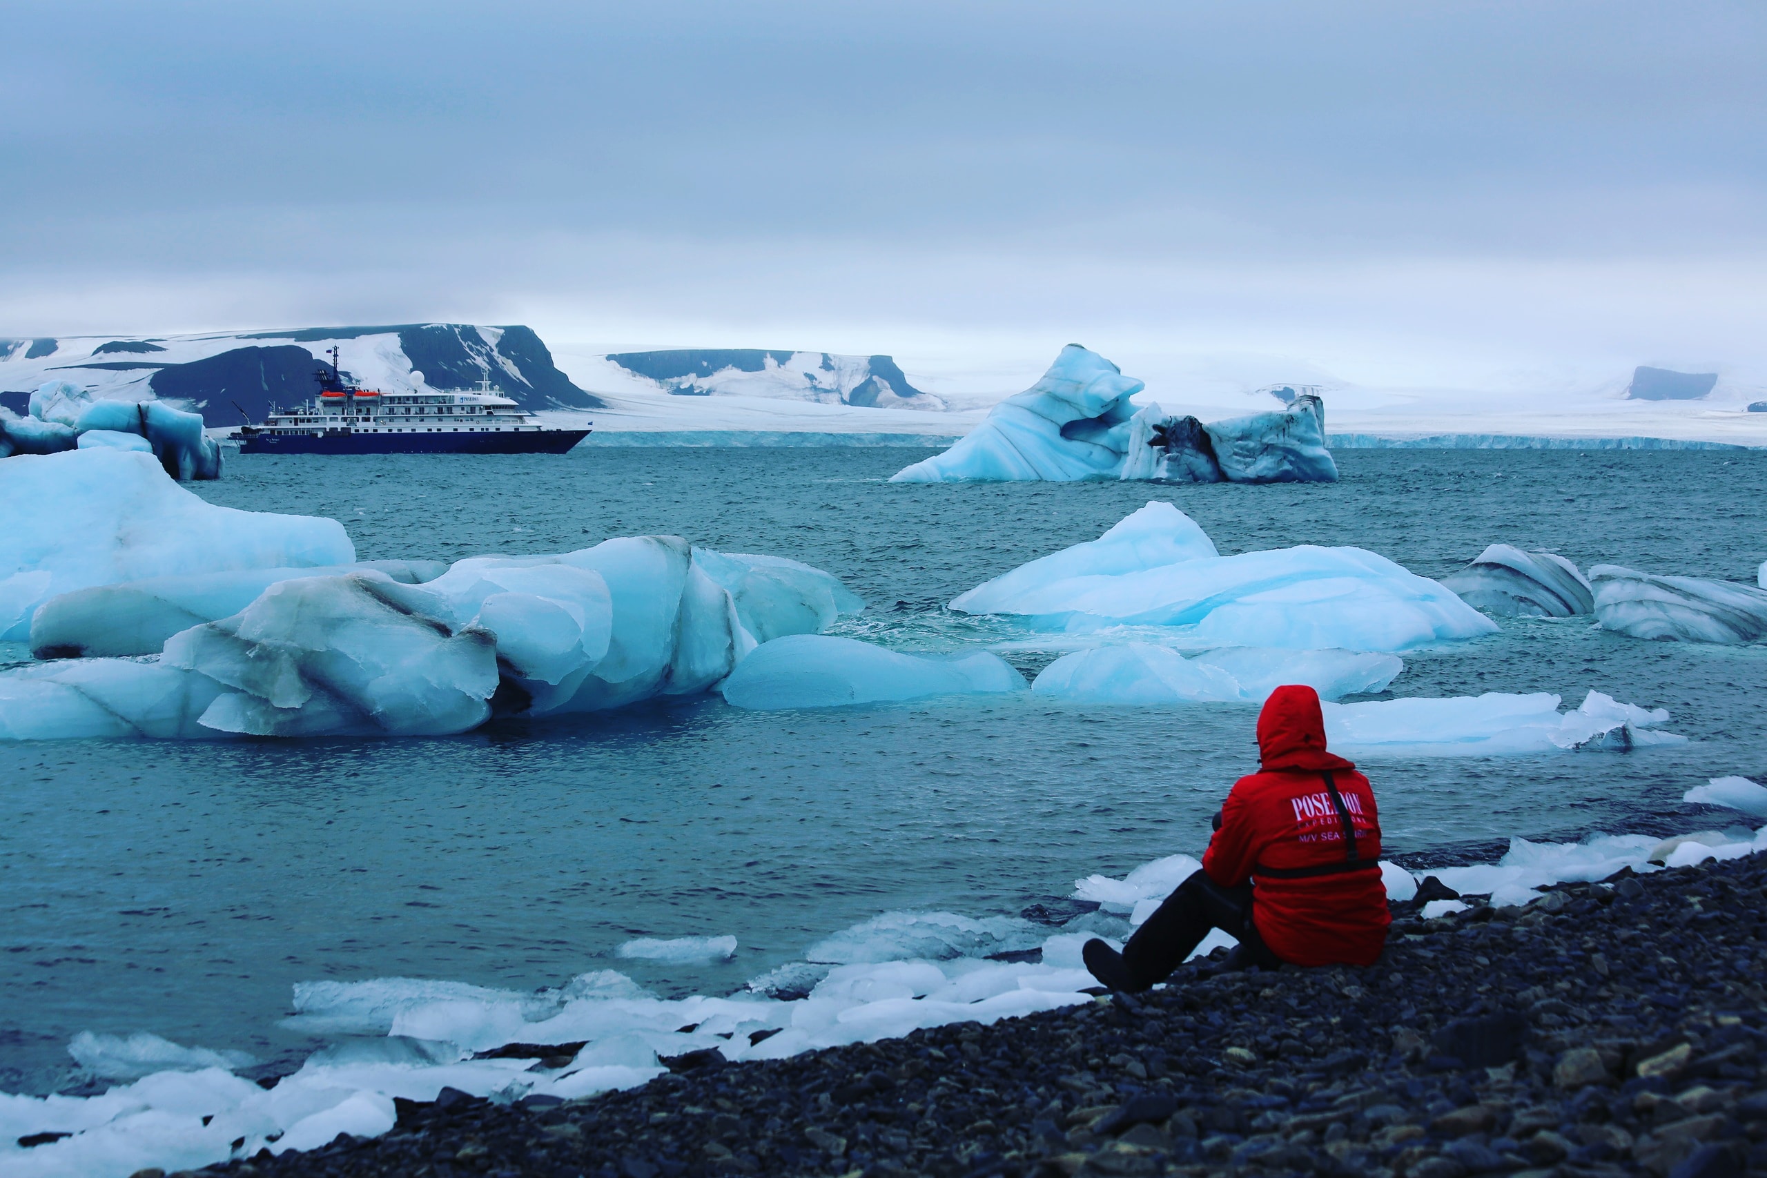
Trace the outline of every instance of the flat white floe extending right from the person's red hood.
<instances>
[{"instance_id":1,"label":"flat white floe extending right from the person's red hood","mask_svg":"<svg viewBox=\"0 0 1767 1178\"><path fill-rule=\"evenodd\" d=\"M1652 731L1668 722L1663 708L1638 708L1590 691L1581 706L1558 712L1548 692L1449 696L1444 699L1376 699L1323 703L1325 740L1345 754L1460 756L1629 751L1686 744L1686 736Z\"/></svg>"}]
</instances>

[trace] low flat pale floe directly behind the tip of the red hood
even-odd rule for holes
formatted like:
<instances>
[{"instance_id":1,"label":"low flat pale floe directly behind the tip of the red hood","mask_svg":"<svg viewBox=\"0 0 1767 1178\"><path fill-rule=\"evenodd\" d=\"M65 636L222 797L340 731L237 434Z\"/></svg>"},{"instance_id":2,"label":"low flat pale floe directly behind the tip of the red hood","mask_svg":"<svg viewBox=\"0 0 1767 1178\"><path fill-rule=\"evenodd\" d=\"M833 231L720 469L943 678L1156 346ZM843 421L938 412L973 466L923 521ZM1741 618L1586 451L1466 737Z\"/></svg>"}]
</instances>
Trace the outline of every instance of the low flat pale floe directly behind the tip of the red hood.
<instances>
[{"instance_id":1,"label":"low flat pale floe directly behind the tip of the red hood","mask_svg":"<svg viewBox=\"0 0 1767 1178\"><path fill-rule=\"evenodd\" d=\"M1126 643L1062 655L1030 689L1081 703L1262 703L1283 683L1306 683L1322 699L1341 699L1385 691L1403 669L1387 653L1240 646L1186 659L1168 646Z\"/></svg>"}]
</instances>

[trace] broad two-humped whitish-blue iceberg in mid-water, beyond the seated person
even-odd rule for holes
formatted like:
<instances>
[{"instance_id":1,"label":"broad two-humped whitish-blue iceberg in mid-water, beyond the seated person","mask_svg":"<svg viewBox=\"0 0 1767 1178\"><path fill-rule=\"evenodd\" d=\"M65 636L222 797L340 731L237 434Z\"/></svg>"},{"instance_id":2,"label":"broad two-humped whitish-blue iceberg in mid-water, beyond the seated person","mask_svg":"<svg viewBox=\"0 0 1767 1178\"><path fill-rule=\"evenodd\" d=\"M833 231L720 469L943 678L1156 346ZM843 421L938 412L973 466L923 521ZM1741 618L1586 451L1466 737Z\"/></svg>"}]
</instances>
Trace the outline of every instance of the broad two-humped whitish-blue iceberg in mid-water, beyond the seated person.
<instances>
[{"instance_id":1,"label":"broad two-humped whitish-blue iceberg in mid-water, beyond the seated person","mask_svg":"<svg viewBox=\"0 0 1767 1178\"><path fill-rule=\"evenodd\" d=\"M1451 590L1361 547L1217 556L1189 516L1157 502L951 608L1014 615L1039 631L1182 627L1194 646L1396 652L1497 631Z\"/></svg>"}]
</instances>

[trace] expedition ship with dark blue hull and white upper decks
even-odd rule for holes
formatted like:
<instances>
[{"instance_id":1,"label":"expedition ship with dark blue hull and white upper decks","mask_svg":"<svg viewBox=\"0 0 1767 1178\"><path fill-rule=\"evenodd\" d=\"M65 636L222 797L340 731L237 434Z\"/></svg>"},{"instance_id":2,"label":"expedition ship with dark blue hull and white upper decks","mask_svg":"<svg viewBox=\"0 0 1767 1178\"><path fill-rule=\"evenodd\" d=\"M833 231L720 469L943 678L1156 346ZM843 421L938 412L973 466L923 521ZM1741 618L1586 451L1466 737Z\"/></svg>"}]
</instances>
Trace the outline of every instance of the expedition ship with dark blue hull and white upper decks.
<instances>
[{"instance_id":1,"label":"expedition ship with dark blue hull and white upper decks","mask_svg":"<svg viewBox=\"0 0 1767 1178\"><path fill-rule=\"evenodd\" d=\"M262 426L233 436L240 454L564 454L588 429L551 429L481 380L472 392L360 389L320 364L320 394L293 410L270 410Z\"/></svg>"}]
</instances>

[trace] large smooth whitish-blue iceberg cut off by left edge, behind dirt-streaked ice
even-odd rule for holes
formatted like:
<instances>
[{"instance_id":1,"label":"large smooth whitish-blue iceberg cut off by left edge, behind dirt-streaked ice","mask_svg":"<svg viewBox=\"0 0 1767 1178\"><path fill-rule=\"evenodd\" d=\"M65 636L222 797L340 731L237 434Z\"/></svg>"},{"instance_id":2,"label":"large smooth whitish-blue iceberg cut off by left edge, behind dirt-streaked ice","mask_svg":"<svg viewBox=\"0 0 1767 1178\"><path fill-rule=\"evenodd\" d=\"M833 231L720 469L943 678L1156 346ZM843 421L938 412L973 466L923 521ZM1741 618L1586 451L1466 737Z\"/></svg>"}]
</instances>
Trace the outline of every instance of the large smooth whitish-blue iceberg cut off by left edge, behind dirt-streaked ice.
<instances>
[{"instance_id":1,"label":"large smooth whitish-blue iceberg cut off by left edge, behind dirt-streaked ice","mask_svg":"<svg viewBox=\"0 0 1767 1178\"><path fill-rule=\"evenodd\" d=\"M0 503L0 641L28 639L37 606L94 585L355 562L336 519L216 507L127 450L4 459Z\"/></svg>"}]
</instances>

